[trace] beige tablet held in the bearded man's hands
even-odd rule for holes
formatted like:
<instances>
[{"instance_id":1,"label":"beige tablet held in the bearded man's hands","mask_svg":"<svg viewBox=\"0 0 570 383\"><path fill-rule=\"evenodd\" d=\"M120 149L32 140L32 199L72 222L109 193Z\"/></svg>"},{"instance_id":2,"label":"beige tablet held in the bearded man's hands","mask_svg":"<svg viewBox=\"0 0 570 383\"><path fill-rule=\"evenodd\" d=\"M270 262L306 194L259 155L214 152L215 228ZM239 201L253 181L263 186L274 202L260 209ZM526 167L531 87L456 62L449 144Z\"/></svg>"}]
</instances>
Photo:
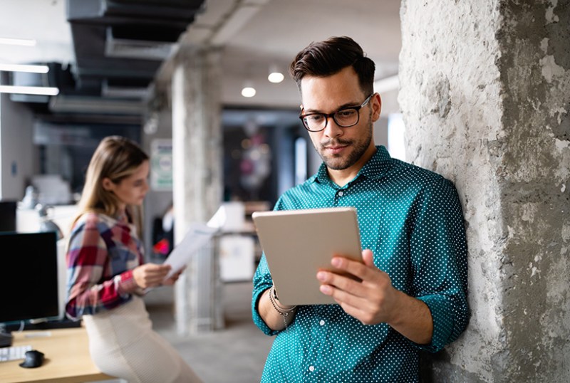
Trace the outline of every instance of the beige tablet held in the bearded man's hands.
<instances>
[{"instance_id":1,"label":"beige tablet held in the bearded man's hands","mask_svg":"<svg viewBox=\"0 0 570 383\"><path fill-rule=\"evenodd\" d=\"M319 290L319 269L333 270L333 255L362 261L356 209L256 211L259 243L279 301L284 305L336 303Z\"/></svg>"}]
</instances>

